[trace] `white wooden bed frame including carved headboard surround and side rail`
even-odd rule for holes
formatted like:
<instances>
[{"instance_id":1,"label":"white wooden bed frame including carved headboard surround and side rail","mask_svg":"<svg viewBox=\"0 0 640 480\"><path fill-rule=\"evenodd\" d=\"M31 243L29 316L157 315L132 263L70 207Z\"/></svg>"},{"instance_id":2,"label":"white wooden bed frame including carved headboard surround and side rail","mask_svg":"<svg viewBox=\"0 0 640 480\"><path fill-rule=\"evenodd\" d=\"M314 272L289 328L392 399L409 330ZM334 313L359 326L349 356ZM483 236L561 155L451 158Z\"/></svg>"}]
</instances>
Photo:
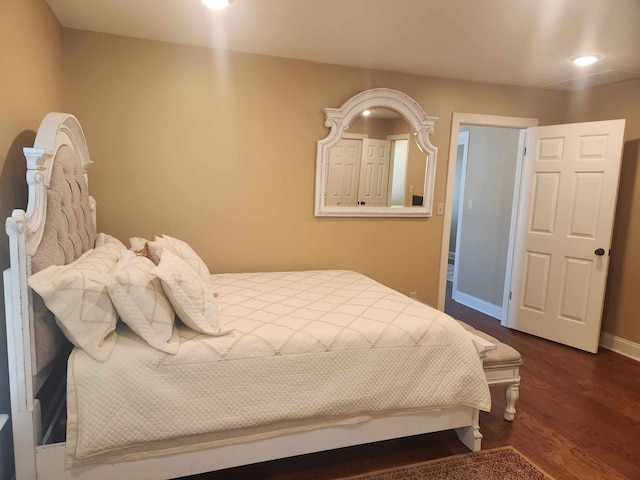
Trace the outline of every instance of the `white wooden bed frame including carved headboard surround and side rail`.
<instances>
[{"instance_id":1,"label":"white wooden bed frame including carved headboard surround and side rail","mask_svg":"<svg viewBox=\"0 0 640 480\"><path fill-rule=\"evenodd\" d=\"M355 425L319 428L254 442L209 448L188 453L148 458L117 464L95 465L65 470L65 444L48 444L51 429L43 425L41 403L36 396L51 368L35 374L33 307L27 278L31 257L44 229L46 188L58 149L68 145L79 155L82 165L90 163L84 134L78 120L69 114L50 113L40 128L34 148L25 148L29 200L26 212L14 210L7 219L11 268L4 272L11 421L18 480L112 480L166 479L220 470L311 452L358 445L408 435L455 429L472 451L480 449L477 409L455 407L414 415L376 418ZM95 224L95 202L90 200ZM472 335L482 357L495 345ZM61 355L58 362L65 362ZM64 392L64 385L58 389ZM64 413L61 402L58 414ZM50 422L51 423L51 422Z\"/></svg>"}]
</instances>

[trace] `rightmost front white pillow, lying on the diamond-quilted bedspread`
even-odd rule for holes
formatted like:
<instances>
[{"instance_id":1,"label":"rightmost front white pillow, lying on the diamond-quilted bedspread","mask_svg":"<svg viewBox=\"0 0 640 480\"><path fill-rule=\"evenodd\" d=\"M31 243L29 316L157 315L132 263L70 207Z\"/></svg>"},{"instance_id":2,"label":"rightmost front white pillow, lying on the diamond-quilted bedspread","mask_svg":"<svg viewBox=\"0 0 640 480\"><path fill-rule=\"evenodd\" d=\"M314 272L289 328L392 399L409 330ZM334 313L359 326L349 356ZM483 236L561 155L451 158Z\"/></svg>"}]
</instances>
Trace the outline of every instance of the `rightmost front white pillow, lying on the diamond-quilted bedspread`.
<instances>
[{"instance_id":1,"label":"rightmost front white pillow, lying on the diamond-quilted bedspread","mask_svg":"<svg viewBox=\"0 0 640 480\"><path fill-rule=\"evenodd\" d=\"M165 249L160 264L150 273L160 278L167 298L186 326L208 335L228 333L221 328L218 304L209 285L185 260Z\"/></svg>"}]
</instances>

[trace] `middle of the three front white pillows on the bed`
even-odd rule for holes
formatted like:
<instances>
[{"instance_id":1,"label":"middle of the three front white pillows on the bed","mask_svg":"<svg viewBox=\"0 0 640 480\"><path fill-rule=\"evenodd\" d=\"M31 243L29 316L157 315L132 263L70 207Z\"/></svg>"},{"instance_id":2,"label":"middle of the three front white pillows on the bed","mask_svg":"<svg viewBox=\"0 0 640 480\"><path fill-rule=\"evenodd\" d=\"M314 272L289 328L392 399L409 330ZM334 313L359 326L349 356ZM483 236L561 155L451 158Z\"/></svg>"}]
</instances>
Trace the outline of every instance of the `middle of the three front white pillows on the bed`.
<instances>
[{"instance_id":1,"label":"middle of the three front white pillows on the bed","mask_svg":"<svg viewBox=\"0 0 640 480\"><path fill-rule=\"evenodd\" d=\"M96 281L106 285L120 319L131 330L152 347L173 355L180 346L173 327L175 312L160 279L149 273L154 268L148 258L124 250L112 273Z\"/></svg>"}]
</instances>

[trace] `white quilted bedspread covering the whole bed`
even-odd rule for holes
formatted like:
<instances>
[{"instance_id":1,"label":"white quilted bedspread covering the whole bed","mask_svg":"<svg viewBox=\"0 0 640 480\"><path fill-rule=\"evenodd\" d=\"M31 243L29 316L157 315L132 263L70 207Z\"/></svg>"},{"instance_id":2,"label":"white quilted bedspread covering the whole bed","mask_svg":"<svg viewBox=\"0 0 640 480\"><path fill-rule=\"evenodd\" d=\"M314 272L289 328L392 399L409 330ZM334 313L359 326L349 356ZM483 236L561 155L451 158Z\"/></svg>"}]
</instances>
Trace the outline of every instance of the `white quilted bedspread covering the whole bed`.
<instances>
[{"instance_id":1,"label":"white quilted bedspread covering the whole bed","mask_svg":"<svg viewBox=\"0 0 640 480\"><path fill-rule=\"evenodd\" d=\"M212 276L224 328L176 355L124 326L106 363L75 349L67 464L118 461L454 405L488 410L446 314L348 271Z\"/></svg>"}]
</instances>

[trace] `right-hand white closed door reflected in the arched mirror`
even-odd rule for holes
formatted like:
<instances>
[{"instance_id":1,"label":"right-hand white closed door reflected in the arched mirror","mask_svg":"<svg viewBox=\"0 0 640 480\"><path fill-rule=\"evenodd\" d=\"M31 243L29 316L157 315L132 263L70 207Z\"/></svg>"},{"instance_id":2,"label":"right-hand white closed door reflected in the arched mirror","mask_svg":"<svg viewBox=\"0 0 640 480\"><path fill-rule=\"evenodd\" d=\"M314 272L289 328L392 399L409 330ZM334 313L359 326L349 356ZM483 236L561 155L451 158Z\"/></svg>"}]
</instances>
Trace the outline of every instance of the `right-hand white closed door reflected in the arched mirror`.
<instances>
[{"instance_id":1,"label":"right-hand white closed door reflected in the arched mirror","mask_svg":"<svg viewBox=\"0 0 640 480\"><path fill-rule=\"evenodd\" d=\"M390 140L366 139L362 141L358 205L366 207L387 206L390 165Z\"/></svg>"}]
</instances>

